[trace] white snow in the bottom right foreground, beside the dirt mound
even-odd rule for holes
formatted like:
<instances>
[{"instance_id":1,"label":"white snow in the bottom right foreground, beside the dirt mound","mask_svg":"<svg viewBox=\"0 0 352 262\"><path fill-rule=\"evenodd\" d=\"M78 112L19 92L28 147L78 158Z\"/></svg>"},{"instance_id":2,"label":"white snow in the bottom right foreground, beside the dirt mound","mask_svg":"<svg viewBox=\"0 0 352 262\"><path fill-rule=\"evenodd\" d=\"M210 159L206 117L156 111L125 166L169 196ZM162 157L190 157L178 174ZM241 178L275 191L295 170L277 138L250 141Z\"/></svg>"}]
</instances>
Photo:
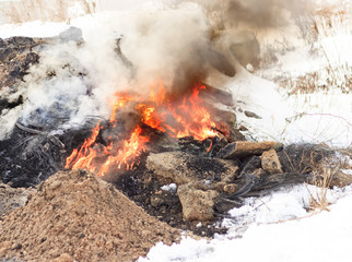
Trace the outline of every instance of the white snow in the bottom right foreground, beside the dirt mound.
<instances>
[{"instance_id":1,"label":"white snow in the bottom right foreground, beside the dirt mound","mask_svg":"<svg viewBox=\"0 0 352 262\"><path fill-rule=\"evenodd\" d=\"M298 192L303 189L298 187L293 190ZM300 200L301 194L292 192L291 195L290 191L272 193L269 202L268 199L257 200L258 203L262 201L262 206L269 205L267 207L251 212L253 206L245 205L239 211L231 212L234 219L238 216L248 217L248 213L253 213L254 222L245 234L231 230L212 240L184 237L179 245L174 243L172 247L157 243L139 262L351 261L351 190L352 188L345 188L344 192L336 192L340 194L335 196L339 200L329 206L330 211L314 215L303 209L307 199ZM270 212L262 213L265 209L270 209Z\"/></svg>"}]
</instances>

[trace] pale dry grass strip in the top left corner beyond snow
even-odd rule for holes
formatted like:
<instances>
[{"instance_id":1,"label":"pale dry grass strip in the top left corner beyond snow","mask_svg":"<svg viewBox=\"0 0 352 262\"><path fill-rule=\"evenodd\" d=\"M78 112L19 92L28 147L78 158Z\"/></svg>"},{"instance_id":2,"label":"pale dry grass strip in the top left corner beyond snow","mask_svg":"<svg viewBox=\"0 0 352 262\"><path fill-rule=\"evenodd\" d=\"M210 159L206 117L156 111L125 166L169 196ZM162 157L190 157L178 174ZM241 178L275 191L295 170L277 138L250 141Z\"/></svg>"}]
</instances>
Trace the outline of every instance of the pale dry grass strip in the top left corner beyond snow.
<instances>
[{"instance_id":1,"label":"pale dry grass strip in the top left corner beyond snow","mask_svg":"<svg viewBox=\"0 0 352 262\"><path fill-rule=\"evenodd\" d=\"M70 19L95 12L95 0L21 0L0 10L11 23L31 21L69 22Z\"/></svg>"}]
</instances>

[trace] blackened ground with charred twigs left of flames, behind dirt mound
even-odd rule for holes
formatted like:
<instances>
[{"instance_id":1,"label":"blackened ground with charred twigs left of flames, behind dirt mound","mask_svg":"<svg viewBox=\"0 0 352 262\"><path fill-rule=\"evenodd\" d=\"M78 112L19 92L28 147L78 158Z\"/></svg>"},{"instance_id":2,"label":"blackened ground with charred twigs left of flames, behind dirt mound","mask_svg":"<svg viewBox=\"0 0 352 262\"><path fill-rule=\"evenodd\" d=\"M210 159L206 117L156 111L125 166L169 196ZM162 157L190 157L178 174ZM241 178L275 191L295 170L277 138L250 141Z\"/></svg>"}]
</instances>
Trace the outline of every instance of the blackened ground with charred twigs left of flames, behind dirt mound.
<instances>
[{"instance_id":1,"label":"blackened ground with charred twigs left of flames, behind dirt mound","mask_svg":"<svg viewBox=\"0 0 352 262\"><path fill-rule=\"evenodd\" d=\"M22 127L22 126L19 126ZM15 127L0 141L1 181L13 188L34 187L62 170L66 158L91 135L91 124L52 135L45 130Z\"/></svg>"}]
</instances>

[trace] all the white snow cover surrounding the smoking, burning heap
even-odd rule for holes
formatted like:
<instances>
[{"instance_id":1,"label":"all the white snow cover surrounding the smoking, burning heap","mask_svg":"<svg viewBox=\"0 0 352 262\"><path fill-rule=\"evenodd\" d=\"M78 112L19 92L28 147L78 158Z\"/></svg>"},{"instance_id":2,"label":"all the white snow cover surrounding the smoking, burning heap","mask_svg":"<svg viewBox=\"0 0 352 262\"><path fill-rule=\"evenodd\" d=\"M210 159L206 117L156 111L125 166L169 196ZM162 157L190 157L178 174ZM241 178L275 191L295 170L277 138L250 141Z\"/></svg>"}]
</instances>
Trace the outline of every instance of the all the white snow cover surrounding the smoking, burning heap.
<instances>
[{"instance_id":1,"label":"all the white snow cover surrounding the smoking, burning heap","mask_svg":"<svg viewBox=\"0 0 352 262\"><path fill-rule=\"evenodd\" d=\"M162 1L150 2L142 8L155 10ZM349 2L344 2L347 10L351 11ZM95 43L98 31L109 34L112 25L122 26L124 23L112 21L126 12L126 9L120 13L104 11L71 20L70 25L38 21L21 25L2 24L0 37L49 37L69 26L77 26L82 28L87 43ZM351 21L350 14L347 15L347 21ZM291 43L295 48L279 56L279 62L272 67L248 72L235 61L237 74L234 78L210 79L212 84L222 85L234 95L238 124L248 128L245 133L248 139L278 140L284 144L325 143L351 150L351 91L345 92L338 82L330 88L291 94L292 88L281 88L274 81L278 75L290 79L312 71L319 72L333 63L337 73L343 69L342 73L351 83L351 24L332 26L336 26L331 28L333 34L319 35L317 39L325 56L309 56L309 46L302 36L291 36L296 38ZM271 40L274 43L275 39ZM320 75L318 81L338 78L333 76L333 72L331 74L326 78ZM255 112L260 119L246 117L244 110ZM352 240L352 187L328 190L329 211L312 211L309 201L320 190L301 184L262 198L247 199L244 206L230 211L228 218L223 221L223 226L230 228L227 235L198 240L185 237L179 245L172 247L157 243L146 258L139 261L352 261L349 248Z\"/></svg>"}]
</instances>

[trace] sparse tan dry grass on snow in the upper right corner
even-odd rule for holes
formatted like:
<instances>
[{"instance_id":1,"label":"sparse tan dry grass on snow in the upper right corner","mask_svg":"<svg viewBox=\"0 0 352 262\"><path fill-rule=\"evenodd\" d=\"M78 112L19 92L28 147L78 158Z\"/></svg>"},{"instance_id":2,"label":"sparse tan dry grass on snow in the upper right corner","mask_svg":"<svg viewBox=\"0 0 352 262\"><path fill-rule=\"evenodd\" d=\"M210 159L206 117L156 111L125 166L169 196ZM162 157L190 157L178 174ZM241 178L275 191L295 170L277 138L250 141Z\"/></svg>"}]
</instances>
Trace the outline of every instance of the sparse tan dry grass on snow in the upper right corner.
<instances>
[{"instance_id":1,"label":"sparse tan dry grass on snow in the upper right corner","mask_svg":"<svg viewBox=\"0 0 352 262\"><path fill-rule=\"evenodd\" d=\"M351 93L351 40L348 38L352 31L351 8L343 4L325 8L305 19L296 17L296 23L312 45L312 55L324 59L326 67L294 79L282 75L278 81L280 86L290 94L310 94L331 87Z\"/></svg>"}]
</instances>

